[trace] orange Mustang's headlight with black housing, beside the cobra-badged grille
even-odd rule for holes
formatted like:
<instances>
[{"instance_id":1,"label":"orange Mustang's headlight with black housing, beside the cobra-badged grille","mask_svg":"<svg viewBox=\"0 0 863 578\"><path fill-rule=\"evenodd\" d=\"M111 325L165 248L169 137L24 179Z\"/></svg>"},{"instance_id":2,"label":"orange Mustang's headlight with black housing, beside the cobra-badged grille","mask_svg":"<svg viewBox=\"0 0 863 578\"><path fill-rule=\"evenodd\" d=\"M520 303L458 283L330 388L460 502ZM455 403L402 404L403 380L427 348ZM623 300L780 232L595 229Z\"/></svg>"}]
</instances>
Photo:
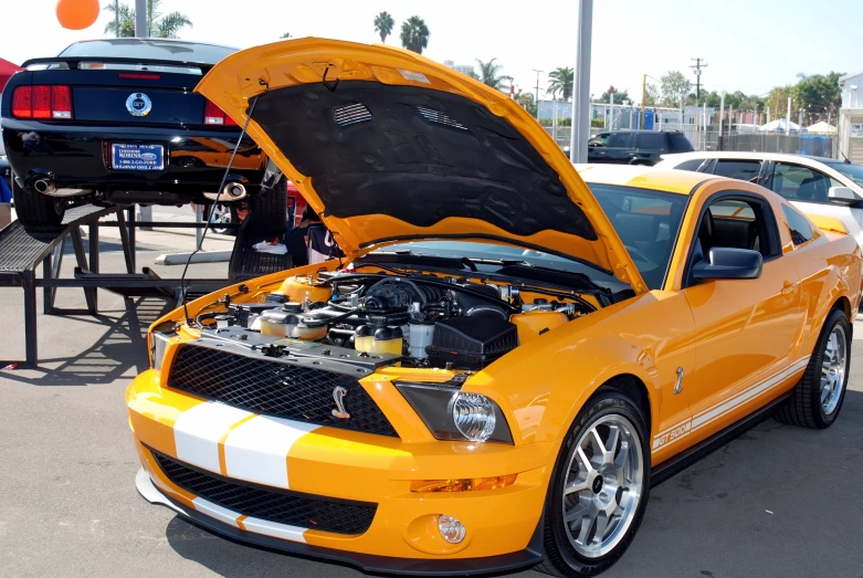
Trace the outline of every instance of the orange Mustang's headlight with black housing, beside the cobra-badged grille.
<instances>
[{"instance_id":1,"label":"orange Mustang's headlight with black housing, beside the cobra-badged grille","mask_svg":"<svg viewBox=\"0 0 863 578\"><path fill-rule=\"evenodd\" d=\"M434 383L396 387L439 440L513 443L501 408L481 393Z\"/></svg>"}]
</instances>

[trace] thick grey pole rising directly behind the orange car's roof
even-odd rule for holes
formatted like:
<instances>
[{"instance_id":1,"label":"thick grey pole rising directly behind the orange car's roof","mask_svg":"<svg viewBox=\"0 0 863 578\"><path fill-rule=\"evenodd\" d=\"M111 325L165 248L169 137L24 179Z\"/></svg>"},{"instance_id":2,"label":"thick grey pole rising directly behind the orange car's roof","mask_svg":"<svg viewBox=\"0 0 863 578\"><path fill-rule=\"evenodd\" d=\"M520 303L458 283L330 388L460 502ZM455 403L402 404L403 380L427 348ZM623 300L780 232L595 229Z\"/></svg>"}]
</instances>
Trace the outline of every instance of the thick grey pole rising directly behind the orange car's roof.
<instances>
[{"instance_id":1,"label":"thick grey pole rising directly behind the orange car's roof","mask_svg":"<svg viewBox=\"0 0 863 578\"><path fill-rule=\"evenodd\" d=\"M587 162L590 136L590 42L593 35L593 0L576 3L576 69L572 75L572 129L569 138L569 160Z\"/></svg>"}]
</instances>

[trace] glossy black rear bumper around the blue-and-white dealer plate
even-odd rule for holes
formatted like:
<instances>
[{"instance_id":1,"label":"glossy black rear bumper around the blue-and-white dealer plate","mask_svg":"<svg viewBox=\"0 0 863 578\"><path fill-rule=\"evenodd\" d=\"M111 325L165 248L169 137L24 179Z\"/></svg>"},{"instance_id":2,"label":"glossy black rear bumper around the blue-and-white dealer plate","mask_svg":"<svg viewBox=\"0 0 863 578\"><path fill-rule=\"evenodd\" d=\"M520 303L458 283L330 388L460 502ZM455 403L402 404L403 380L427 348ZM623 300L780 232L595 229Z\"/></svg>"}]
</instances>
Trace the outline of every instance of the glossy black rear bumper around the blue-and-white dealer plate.
<instances>
[{"instance_id":1,"label":"glossy black rear bumper around the blue-and-white dealer plate","mask_svg":"<svg viewBox=\"0 0 863 578\"><path fill-rule=\"evenodd\" d=\"M164 202L215 192L224 176L238 130L170 127L60 126L33 120L2 122L3 141L20 186L50 176L57 188L171 193ZM161 145L165 167L155 171L114 170L112 144ZM260 189L266 157L244 138L231 174L250 193ZM159 202L159 197L154 197Z\"/></svg>"}]
</instances>

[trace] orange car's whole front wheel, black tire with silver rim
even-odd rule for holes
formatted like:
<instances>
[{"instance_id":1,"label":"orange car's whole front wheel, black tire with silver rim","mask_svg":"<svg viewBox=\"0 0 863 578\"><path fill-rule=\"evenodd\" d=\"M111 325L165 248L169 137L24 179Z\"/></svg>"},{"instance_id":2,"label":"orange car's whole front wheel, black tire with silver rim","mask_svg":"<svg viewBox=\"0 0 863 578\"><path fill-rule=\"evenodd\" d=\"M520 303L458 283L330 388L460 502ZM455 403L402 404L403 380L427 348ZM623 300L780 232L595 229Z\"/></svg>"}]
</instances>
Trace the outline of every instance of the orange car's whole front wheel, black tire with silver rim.
<instances>
[{"instance_id":1,"label":"orange car's whole front wheel, black tire with silver rim","mask_svg":"<svg viewBox=\"0 0 863 578\"><path fill-rule=\"evenodd\" d=\"M581 409L551 475L538 570L596 576L623 556L650 494L648 437L642 411L613 388Z\"/></svg>"}]
</instances>

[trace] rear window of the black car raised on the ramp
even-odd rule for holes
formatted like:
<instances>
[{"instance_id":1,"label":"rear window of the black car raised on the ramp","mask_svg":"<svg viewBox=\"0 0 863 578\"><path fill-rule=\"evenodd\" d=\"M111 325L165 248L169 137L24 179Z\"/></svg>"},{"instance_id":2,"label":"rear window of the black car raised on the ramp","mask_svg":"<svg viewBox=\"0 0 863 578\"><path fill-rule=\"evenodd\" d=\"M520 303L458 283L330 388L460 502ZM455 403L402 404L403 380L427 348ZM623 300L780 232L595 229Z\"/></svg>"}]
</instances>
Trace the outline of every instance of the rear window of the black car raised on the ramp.
<instances>
[{"instance_id":1,"label":"rear window of the black car raised on the ramp","mask_svg":"<svg viewBox=\"0 0 863 578\"><path fill-rule=\"evenodd\" d=\"M149 59L215 64L234 52L236 52L236 49L219 46L217 44L200 44L197 42L178 42L158 39L108 39L76 42L59 55L75 59Z\"/></svg>"}]
</instances>

